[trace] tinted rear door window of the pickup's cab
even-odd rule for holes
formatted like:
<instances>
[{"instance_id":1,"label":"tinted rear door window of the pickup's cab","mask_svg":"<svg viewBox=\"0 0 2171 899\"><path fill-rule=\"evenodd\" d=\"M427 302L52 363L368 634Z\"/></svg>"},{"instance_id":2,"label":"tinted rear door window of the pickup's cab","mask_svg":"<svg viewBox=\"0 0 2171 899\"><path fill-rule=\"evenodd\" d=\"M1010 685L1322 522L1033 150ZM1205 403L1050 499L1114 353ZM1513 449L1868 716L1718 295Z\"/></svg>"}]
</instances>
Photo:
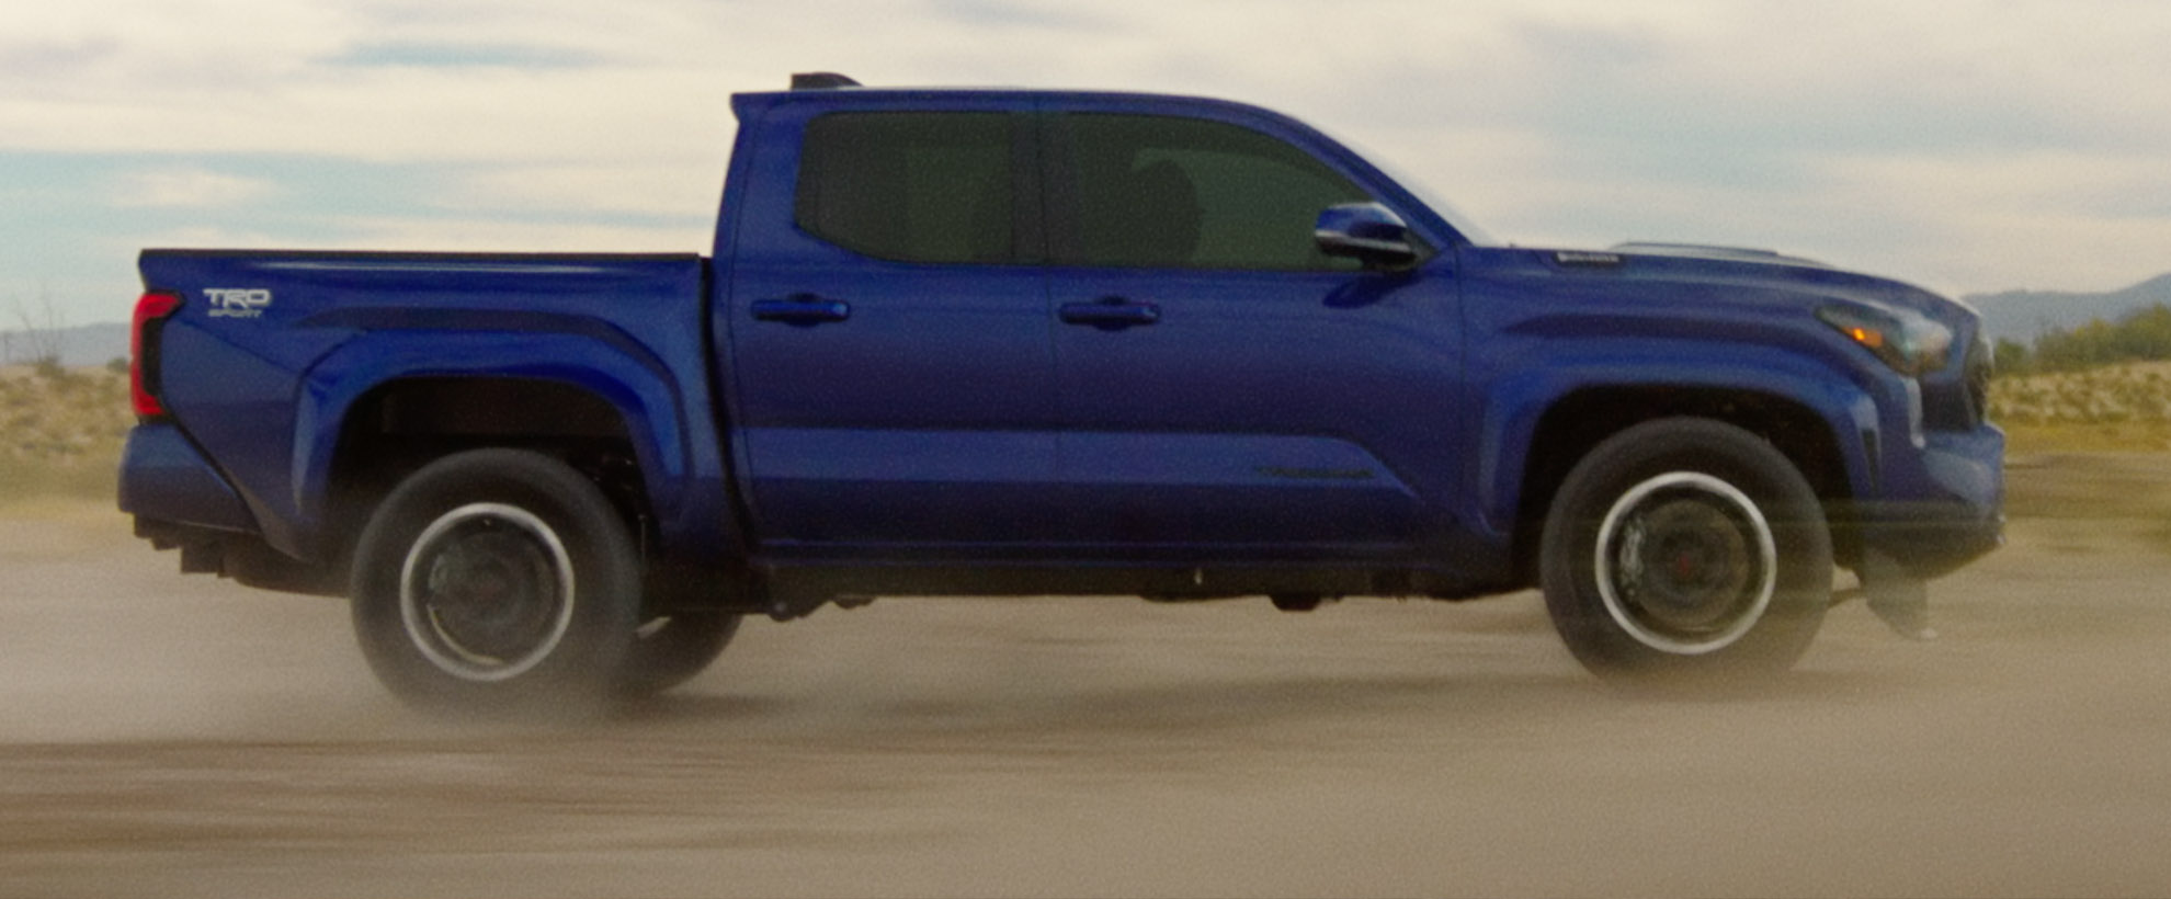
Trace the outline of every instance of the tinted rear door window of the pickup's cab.
<instances>
[{"instance_id":1,"label":"tinted rear door window of the pickup's cab","mask_svg":"<svg viewBox=\"0 0 2171 899\"><path fill-rule=\"evenodd\" d=\"M797 221L868 256L1007 263L1012 117L1005 113L834 113L808 124Z\"/></svg>"}]
</instances>

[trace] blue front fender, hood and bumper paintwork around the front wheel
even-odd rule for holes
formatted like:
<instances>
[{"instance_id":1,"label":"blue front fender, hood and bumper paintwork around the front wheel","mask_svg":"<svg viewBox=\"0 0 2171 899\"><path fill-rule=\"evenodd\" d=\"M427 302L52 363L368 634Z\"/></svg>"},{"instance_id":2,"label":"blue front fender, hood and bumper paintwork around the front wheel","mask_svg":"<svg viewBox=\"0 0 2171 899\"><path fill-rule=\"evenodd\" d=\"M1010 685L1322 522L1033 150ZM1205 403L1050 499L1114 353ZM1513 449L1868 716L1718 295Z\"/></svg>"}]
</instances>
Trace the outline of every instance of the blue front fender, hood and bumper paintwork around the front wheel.
<instances>
[{"instance_id":1,"label":"blue front fender, hood and bumper paintwork around the front wheel","mask_svg":"<svg viewBox=\"0 0 2171 899\"><path fill-rule=\"evenodd\" d=\"M1876 300L1919 308L1971 337L1976 317L1958 304L1882 278L1724 254L1624 254L1617 265L1563 267L1544 252L1470 248L1463 271L1470 330L1489 334L1472 352L1470 389L1487 404L1476 458L1485 465L1483 515L1496 534L1518 515L1520 463L1531 458L1546 408L1585 389L1652 384L1752 391L1815 413L1834 434L1852 497L1874 499L1858 506L1871 532L1921 508L1943 510L1937 515L1963 530L1995 532L1997 430L1937 434L1965 460L1943 469L1976 473L1932 476L1917 380L1815 317L1821 302ZM1921 382L1960 378L1956 358Z\"/></svg>"}]
</instances>

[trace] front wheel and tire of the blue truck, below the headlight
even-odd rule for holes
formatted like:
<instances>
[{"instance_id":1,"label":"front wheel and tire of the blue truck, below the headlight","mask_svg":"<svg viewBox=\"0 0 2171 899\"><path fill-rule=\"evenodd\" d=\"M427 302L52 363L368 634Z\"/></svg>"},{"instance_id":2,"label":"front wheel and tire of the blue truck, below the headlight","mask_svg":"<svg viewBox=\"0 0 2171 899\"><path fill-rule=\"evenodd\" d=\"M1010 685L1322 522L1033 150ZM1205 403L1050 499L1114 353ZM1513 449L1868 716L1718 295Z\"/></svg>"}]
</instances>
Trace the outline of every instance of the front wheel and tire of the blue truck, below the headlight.
<instances>
[{"instance_id":1,"label":"front wheel and tire of the blue truck, below the headlight","mask_svg":"<svg viewBox=\"0 0 2171 899\"><path fill-rule=\"evenodd\" d=\"M1832 595L1808 480L1761 436L1709 419L1602 441L1561 482L1541 541L1552 625L1613 684L1769 682L1808 649Z\"/></svg>"}]
</instances>

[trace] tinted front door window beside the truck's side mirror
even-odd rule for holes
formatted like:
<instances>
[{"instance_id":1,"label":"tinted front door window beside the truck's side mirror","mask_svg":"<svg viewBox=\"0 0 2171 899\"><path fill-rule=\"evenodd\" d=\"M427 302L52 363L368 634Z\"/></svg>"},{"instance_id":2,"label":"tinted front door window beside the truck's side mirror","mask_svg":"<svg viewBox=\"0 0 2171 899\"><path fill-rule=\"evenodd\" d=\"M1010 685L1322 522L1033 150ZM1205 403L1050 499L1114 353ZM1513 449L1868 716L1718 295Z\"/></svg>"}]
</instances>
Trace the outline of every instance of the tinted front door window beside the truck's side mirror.
<instances>
[{"instance_id":1,"label":"tinted front door window beside the truck's side mirror","mask_svg":"<svg viewBox=\"0 0 2171 899\"><path fill-rule=\"evenodd\" d=\"M1322 208L1372 200L1309 152L1220 122L1066 115L1068 228L1057 261L1122 267L1342 269L1311 239Z\"/></svg>"}]
</instances>

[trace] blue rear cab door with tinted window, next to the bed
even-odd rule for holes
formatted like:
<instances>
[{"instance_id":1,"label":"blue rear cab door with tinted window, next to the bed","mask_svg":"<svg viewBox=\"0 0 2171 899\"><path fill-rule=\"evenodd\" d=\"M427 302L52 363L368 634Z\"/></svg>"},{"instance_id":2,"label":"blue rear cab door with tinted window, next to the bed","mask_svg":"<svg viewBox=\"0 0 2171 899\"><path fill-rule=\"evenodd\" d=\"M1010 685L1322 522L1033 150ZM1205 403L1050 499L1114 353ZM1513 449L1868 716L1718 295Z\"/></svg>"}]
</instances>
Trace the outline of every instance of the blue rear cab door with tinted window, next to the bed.
<instances>
[{"instance_id":1,"label":"blue rear cab door with tinted window, next to the bed","mask_svg":"<svg viewBox=\"0 0 2171 899\"><path fill-rule=\"evenodd\" d=\"M1014 106L831 93L760 119L719 315L773 552L1049 536L1038 167Z\"/></svg>"}]
</instances>

